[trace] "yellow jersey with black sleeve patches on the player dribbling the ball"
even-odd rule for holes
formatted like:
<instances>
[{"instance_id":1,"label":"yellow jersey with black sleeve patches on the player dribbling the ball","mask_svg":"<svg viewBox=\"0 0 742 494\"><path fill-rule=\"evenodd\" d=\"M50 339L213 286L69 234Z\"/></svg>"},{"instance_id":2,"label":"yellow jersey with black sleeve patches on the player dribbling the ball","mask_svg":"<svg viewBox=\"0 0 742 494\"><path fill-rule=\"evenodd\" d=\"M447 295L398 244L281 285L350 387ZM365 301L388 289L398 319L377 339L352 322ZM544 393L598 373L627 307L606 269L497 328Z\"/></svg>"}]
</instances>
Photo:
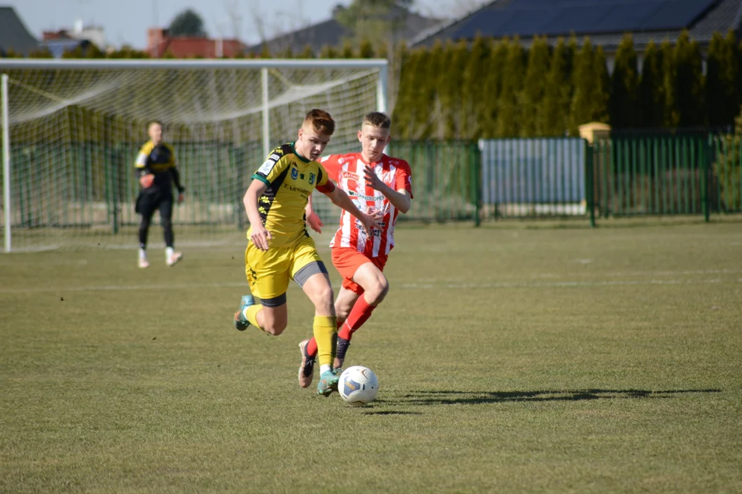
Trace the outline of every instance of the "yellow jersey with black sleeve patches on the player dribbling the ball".
<instances>
[{"instance_id":1,"label":"yellow jersey with black sleeve patches on the player dribbling the ball","mask_svg":"<svg viewBox=\"0 0 742 494\"><path fill-rule=\"evenodd\" d=\"M268 186L257 199L257 211L271 233L270 246L292 247L308 237L304 208L312 190L327 184L324 167L299 156L294 143L289 143L273 150L252 178Z\"/></svg>"}]
</instances>

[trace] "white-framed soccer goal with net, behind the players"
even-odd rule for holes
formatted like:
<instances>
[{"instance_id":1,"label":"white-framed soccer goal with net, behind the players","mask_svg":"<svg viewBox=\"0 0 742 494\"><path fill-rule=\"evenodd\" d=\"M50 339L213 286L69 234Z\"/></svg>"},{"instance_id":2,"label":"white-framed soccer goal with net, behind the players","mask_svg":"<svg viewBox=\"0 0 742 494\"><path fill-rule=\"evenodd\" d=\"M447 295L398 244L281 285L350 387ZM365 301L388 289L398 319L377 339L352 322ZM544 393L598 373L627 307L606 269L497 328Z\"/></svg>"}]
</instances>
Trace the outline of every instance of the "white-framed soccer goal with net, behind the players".
<instances>
[{"instance_id":1,"label":"white-framed soccer goal with net, behind the players","mask_svg":"<svg viewBox=\"0 0 742 494\"><path fill-rule=\"evenodd\" d=\"M242 198L269 151L294 141L312 108L336 121L326 153L356 150L364 114L386 110L386 70L381 60L1 60L6 250L136 247L134 162L154 119L186 187L177 246L243 244ZM323 218L338 217L315 199ZM157 213L152 225L158 247Z\"/></svg>"}]
</instances>

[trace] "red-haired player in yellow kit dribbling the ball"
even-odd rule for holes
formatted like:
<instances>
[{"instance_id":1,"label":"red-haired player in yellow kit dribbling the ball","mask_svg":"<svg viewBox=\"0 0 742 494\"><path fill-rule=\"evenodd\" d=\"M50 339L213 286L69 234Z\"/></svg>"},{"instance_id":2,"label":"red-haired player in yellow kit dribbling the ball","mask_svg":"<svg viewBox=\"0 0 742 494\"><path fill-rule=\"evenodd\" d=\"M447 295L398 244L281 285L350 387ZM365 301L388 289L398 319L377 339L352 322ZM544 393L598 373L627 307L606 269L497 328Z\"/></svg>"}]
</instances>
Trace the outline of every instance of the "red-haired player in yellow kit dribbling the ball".
<instances>
[{"instance_id":1,"label":"red-haired player in yellow kit dribbling the ball","mask_svg":"<svg viewBox=\"0 0 742 494\"><path fill-rule=\"evenodd\" d=\"M245 273L251 295L243 296L234 314L234 327L249 324L270 335L286 329L286 289L294 280L315 305L313 333L318 347L320 381L317 393L338 389L339 373L333 370L337 318L332 285L315 242L306 231L304 208L315 188L357 218L370 231L375 217L358 210L347 193L329 181L316 161L335 131L335 121L323 110L306 114L298 139L273 150L252 176L244 204L250 221L245 251ZM255 297L260 298L257 304Z\"/></svg>"}]
</instances>

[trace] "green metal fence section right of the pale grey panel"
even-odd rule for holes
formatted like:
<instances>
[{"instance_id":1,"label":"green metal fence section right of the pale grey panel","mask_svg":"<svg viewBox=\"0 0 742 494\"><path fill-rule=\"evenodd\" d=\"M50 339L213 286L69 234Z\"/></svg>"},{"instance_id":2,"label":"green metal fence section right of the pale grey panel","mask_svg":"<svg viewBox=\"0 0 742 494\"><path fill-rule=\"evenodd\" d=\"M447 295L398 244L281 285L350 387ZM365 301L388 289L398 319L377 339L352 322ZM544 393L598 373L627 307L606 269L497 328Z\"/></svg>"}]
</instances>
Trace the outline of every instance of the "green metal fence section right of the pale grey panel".
<instances>
[{"instance_id":1,"label":"green metal fence section right of the pale grey panel","mask_svg":"<svg viewBox=\"0 0 742 494\"><path fill-rule=\"evenodd\" d=\"M741 213L740 136L600 139L592 146L598 217Z\"/></svg>"}]
</instances>

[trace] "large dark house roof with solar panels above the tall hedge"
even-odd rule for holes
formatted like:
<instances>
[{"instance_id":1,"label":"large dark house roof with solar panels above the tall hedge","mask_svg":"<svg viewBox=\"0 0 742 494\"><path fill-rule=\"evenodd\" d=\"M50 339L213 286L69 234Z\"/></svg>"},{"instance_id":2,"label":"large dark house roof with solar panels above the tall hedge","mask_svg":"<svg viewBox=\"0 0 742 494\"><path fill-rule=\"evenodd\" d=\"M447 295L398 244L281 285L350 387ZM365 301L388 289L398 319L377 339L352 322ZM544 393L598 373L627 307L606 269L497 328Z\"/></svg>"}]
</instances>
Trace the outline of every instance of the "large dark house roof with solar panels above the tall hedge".
<instances>
[{"instance_id":1,"label":"large dark house roof with solar panels above the tall hedge","mask_svg":"<svg viewBox=\"0 0 742 494\"><path fill-rule=\"evenodd\" d=\"M534 34L554 44L560 36L574 33L578 39L589 36L594 44L611 50L624 33L631 33L634 44L643 47L651 40L674 41L686 29L692 39L707 44L716 32L739 34L741 28L742 0L496 0L462 19L421 33L410 44L470 40L480 33L493 38L519 36L528 46Z\"/></svg>"}]
</instances>

